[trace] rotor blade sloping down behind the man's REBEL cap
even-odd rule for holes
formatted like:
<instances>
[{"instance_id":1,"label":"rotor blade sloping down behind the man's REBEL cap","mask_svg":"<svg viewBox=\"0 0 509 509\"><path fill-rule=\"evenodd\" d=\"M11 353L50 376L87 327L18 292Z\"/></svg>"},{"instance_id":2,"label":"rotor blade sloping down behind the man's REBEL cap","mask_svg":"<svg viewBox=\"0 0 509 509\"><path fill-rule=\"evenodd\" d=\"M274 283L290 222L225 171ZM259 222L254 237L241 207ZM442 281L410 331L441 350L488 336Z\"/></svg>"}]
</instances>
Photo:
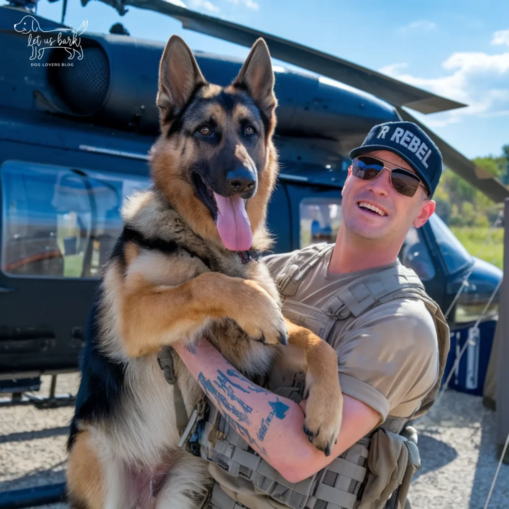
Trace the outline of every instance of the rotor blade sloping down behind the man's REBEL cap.
<instances>
[{"instance_id":1,"label":"rotor blade sloping down behind the man's REBEL cap","mask_svg":"<svg viewBox=\"0 0 509 509\"><path fill-rule=\"evenodd\" d=\"M437 136L428 127L421 124L415 117L410 115L408 111L402 108L397 108L397 110L403 120L414 122L430 136L440 149L444 164L453 170L453 172L472 184L476 189L486 194L486 196L494 202L503 202L509 197L509 187L504 185L499 179L476 166L472 161L444 142L440 136Z\"/></svg>"}]
</instances>

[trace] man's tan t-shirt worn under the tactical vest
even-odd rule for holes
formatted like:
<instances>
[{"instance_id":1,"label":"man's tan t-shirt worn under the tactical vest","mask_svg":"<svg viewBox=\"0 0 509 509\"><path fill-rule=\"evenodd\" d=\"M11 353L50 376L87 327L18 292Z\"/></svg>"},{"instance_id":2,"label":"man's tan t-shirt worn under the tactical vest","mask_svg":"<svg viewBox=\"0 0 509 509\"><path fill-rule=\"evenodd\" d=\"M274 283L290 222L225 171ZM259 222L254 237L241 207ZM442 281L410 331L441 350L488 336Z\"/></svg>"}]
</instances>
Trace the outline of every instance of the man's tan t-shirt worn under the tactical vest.
<instances>
[{"instance_id":1,"label":"man's tan t-shirt worn under the tactical vest","mask_svg":"<svg viewBox=\"0 0 509 509\"><path fill-rule=\"evenodd\" d=\"M331 274L331 249L308 271L292 300L322 307L354 279L394 267ZM297 251L262 260L276 277ZM347 323L336 322L327 342L338 358L343 393L387 416L409 417L438 378L438 340L433 318L419 299L395 299Z\"/></svg>"}]
</instances>

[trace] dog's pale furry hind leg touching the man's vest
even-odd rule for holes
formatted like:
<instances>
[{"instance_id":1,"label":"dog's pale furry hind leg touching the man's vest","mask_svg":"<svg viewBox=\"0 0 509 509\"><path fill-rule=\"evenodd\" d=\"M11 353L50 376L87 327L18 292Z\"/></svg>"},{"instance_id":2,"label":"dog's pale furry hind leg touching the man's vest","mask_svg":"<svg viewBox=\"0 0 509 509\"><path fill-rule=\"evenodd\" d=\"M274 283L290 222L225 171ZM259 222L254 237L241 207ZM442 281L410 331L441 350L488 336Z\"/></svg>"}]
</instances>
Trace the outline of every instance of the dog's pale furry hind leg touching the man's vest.
<instances>
[{"instance_id":1,"label":"dog's pale furry hind leg touching the man's vest","mask_svg":"<svg viewBox=\"0 0 509 509\"><path fill-rule=\"evenodd\" d=\"M208 463L183 451L157 494L155 509L199 509L210 484Z\"/></svg>"}]
</instances>

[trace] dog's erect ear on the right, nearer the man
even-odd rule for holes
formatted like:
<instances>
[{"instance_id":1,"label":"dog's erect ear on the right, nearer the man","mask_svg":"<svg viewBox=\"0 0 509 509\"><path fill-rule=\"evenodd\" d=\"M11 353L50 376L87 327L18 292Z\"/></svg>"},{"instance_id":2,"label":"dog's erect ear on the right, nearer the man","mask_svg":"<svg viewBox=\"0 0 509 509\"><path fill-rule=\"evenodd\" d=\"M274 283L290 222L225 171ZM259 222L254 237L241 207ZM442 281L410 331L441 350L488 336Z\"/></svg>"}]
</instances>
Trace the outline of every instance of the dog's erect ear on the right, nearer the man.
<instances>
[{"instance_id":1,"label":"dog's erect ear on the right, nearer the man","mask_svg":"<svg viewBox=\"0 0 509 509\"><path fill-rule=\"evenodd\" d=\"M274 95L274 71L269 48L260 38L251 48L233 86L246 89L262 112L270 119L277 104Z\"/></svg>"}]
</instances>

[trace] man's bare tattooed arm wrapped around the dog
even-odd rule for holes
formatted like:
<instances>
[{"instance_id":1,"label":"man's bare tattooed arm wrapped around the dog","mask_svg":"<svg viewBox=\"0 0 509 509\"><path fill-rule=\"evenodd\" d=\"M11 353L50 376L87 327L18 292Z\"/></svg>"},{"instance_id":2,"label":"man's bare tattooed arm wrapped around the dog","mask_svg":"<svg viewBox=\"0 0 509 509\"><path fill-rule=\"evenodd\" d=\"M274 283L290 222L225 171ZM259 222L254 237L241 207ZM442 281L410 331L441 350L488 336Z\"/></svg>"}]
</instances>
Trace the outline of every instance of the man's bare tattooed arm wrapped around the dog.
<instances>
[{"instance_id":1,"label":"man's bare tattooed arm wrapped around the dog","mask_svg":"<svg viewBox=\"0 0 509 509\"><path fill-rule=\"evenodd\" d=\"M331 455L309 443L299 405L253 384L204 338L192 351L174 344L193 377L230 425L292 483L318 472L377 426L380 415L344 394L343 423Z\"/></svg>"}]
</instances>

